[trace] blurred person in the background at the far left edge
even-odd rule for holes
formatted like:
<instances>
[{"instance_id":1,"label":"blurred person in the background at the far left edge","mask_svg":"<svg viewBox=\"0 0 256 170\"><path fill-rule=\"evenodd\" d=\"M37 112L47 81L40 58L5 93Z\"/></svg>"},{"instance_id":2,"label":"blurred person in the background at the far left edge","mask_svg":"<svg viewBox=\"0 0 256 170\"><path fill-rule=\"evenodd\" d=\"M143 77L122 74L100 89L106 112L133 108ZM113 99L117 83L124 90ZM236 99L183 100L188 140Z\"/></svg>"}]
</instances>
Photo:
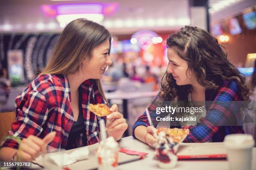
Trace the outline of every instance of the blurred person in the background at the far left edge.
<instances>
[{"instance_id":1,"label":"blurred person in the background at the far left edge","mask_svg":"<svg viewBox=\"0 0 256 170\"><path fill-rule=\"evenodd\" d=\"M0 93L4 93L8 97L11 90L10 80L7 79L7 70L5 68L0 69Z\"/></svg>"}]
</instances>

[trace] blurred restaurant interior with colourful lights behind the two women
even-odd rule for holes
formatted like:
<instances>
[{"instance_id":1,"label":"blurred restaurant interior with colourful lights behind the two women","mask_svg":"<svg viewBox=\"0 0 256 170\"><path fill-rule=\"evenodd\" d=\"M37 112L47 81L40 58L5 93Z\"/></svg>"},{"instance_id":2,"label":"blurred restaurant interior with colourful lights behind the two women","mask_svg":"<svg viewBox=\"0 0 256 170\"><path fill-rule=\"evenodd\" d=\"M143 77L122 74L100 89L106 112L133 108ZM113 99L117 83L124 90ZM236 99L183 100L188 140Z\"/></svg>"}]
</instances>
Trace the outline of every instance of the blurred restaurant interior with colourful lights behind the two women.
<instances>
[{"instance_id":1,"label":"blurred restaurant interior with colourful lights behind the two women","mask_svg":"<svg viewBox=\"0 0 256 170\"><path fill-rule=\"evenodd\" d=\"M104 25L113 39L113 65L102 78L110 103L131 125L151 103L167 68L166 38L184 25L218 38L246 75L256 58L255 0L8 0L0 1L0 111L46 66L72 20Z\"/></svg>"}]
</instances>

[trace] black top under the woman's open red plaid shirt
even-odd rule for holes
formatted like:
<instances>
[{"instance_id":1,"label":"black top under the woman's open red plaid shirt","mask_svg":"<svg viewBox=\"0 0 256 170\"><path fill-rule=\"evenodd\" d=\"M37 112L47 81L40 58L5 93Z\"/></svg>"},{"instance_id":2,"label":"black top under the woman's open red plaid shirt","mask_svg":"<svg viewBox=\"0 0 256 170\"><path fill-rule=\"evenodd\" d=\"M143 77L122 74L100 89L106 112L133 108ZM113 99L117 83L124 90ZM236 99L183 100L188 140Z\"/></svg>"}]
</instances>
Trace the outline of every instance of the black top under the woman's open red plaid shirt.
<instances>
[{"instance_id":1,"label":"black top under the woman's open red plaid shirt","mask_svg":"<svg viewBox=\"0 0 256 170\"><path fill-rule=\"evenodd\" d=\"M80 92L79 92L79 94L80 94ZM76 139L79 139L80 135L82 133L83 133L83 136L85 136L85 126L84 126L84 117L83 117L83 113L82 113L81 100L82 100L82 97L81 97L81 95L79 95L79 115L78 115L77 121L73 122L72 128L69 132L66 150L76 148L75 147Z\"/></svg>"}]
</instances>

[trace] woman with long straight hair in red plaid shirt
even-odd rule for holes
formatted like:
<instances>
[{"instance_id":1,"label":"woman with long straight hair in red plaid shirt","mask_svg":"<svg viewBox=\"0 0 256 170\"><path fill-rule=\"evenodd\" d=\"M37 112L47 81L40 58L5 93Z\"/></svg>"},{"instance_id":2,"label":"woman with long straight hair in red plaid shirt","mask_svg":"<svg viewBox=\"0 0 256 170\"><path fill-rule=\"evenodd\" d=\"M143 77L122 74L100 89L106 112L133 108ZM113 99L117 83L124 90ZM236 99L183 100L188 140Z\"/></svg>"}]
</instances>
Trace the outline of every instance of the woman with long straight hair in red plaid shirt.
<instances>
[{"instance_id":1,"label":"woman with long straight hair in red plaid shirt","mask_svg":"<svg viewBox=\"0 0 256 170\"><path fill-rule=\"evenodd\" d=\"M46 148L95 144L100 119L109 120L107 134L120 140L128 125L117 105L108 117L88 108L90 103L107 104L100 79L112 64L110 42L105 27L83 18L64 28L46 68L15 100L16 121L8 134L13 138L2 143L0 160L32 161Z\"/></svg>"}]
</instances>

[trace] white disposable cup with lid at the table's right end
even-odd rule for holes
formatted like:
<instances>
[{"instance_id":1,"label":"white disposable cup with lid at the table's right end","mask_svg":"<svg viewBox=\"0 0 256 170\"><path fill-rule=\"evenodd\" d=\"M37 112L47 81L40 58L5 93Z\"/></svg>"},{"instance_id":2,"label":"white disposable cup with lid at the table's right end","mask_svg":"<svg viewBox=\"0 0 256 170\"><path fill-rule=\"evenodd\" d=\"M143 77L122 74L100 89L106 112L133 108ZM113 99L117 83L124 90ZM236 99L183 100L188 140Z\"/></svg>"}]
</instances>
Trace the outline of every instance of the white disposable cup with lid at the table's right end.
<instances>
[{"instance_id":1,"label":"white disposable cup with lid at the table's right end","mask_svg":"<svg viewBox=\"0 0 256 170\"><path fill-rule=\"evenodd\" d=\"M251 170L254 143L253 136L248 134L225 136L224 144L228 153L230 170Z\"/></svg>"}]
</instances>

